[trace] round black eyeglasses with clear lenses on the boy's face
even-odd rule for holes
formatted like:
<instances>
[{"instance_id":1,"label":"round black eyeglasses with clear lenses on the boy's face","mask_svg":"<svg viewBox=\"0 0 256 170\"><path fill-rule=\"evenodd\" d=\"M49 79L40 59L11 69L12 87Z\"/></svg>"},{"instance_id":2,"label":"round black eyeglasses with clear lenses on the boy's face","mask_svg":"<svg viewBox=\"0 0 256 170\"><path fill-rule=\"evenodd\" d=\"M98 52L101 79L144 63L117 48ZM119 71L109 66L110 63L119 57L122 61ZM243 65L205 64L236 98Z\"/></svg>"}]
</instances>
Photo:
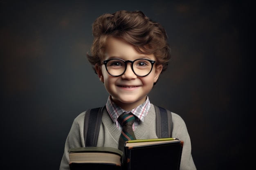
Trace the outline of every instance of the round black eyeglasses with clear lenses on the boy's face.
<instances>
[{"instance_id":1,"label":"round black eyeglasses with clear lenses on the boy's face","mask_svg":"<svg viewBox=\"0 0 256 170\"><path fill-rule=\"evenodd\" d=\"M131 60L124 61L122 59L110 59L110 60L104 60L103 64L105 64L108 74L114 77L118 77L125 73L128 62L131 63L133 73L139 77L145 77L149 75L155 63L155 61L148 60L148 59L137 59L134 61L131 61Z\"/></svg>"}]
</instances>

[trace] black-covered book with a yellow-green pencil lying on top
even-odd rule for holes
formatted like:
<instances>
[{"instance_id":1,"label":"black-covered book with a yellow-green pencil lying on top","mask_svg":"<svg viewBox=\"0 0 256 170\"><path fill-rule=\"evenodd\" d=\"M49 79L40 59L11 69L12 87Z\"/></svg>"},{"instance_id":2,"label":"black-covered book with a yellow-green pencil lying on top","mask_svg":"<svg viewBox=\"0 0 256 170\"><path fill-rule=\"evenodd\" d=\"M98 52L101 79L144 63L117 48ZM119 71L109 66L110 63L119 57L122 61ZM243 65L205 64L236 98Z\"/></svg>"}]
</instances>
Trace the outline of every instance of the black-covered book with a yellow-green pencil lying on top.
<instances>
[{"instance_id":1,"label":"black-covered book with a yellow-green pencil lying on top","mask_svg":"<svg viewBox=\"0 0 256 170\"><path fill-rule=\"evenodd\" d=\"M127 170L180 170L183 143L175 138L126 141Z\"/></svg>"}]
</instances>

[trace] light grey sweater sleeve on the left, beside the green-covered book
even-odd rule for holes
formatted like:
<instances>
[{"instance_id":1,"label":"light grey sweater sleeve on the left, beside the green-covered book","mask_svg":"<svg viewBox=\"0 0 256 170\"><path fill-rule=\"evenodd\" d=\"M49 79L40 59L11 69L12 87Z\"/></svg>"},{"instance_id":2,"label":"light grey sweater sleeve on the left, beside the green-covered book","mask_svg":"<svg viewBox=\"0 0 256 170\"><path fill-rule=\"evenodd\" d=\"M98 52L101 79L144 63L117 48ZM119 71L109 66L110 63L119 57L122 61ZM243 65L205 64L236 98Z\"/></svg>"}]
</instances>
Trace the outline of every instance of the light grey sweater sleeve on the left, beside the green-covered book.
<instances>
[{"instance_id":1,"label":"light grey sweater sleeve on the left, beside the green-covered book","mask_svg":"<svg viewBox=\"0 0 256 170\"><path fill-rule=\"evenodd\" d=\"M75 147L85 147L83 138L83 126L84 126L85 112L78 115L71 126L70 132L67 135L65 142L64 153L61 159L61 165L59 170L70 170L68 150Z\"/></svg>"}]
</instances>

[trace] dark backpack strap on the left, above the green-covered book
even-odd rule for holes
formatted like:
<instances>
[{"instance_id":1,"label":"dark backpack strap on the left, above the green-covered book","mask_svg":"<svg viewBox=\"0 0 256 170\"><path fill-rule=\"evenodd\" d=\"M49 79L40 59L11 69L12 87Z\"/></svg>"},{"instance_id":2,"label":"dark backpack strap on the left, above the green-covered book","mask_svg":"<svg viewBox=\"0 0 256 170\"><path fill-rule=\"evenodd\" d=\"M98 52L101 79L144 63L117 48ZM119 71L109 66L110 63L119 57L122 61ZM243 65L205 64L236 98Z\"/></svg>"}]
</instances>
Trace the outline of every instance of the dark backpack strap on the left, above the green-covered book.
<instances>
[{"instance_id":1,"label":"dark backpack strap on the left, above the green-covered book","mask_svg":"<svg viewBox=\"0 0 256 170\"><path fill-rule=\"evenodd\" d=\"M101 126L101 118L103 114L103 109L105 107L106 106L99 107L99 108L92 108L86 111L85 119L84 119L84 130L83 130L85 147L97 145L99 129Z\"/></svg>"}]
</instances>

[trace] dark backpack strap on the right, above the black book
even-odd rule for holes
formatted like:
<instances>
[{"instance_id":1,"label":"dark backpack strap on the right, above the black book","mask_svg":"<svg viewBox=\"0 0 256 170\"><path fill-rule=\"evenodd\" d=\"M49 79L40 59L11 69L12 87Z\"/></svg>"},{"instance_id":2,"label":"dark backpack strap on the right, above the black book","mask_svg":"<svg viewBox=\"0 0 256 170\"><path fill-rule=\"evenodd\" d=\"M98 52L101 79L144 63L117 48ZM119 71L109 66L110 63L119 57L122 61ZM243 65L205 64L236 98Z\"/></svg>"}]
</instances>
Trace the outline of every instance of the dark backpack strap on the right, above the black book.
<instances>
[{"instance_id":1,"label":"dark backpack strap on the right, above the black book","mask_svg":"<svg viewBox=\"0 0 256 170\"><path fill-rule=\"evenodd\" d=\"M165 138L172 137L173 120L171 111L165 108L155 106L156 113L156 126L157 126L157 137Z\"/></svg>"}]
</instances>

